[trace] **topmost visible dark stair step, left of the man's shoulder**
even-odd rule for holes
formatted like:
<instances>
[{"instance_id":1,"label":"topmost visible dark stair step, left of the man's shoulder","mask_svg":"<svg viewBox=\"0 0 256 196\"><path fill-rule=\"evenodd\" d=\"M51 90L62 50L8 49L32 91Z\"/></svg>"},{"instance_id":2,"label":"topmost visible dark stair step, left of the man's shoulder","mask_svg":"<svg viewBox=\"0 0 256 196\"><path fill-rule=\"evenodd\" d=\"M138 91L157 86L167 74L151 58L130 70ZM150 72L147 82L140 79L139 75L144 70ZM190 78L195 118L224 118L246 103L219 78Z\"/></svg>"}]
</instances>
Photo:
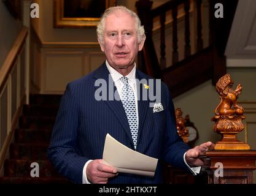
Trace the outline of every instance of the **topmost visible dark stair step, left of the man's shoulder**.
<instances>
[{"instance_id":1,"label":"topmost visible dark stair step, left of the man's shoulder","mask_svg":"<svg viewBox=\"0 0 256 196\"><path fill-rule=\"evenodd\" d=\"M29 96L30 104L58 105L62 95L58 94L31 94Z\"/></svg>"}]
</instances>

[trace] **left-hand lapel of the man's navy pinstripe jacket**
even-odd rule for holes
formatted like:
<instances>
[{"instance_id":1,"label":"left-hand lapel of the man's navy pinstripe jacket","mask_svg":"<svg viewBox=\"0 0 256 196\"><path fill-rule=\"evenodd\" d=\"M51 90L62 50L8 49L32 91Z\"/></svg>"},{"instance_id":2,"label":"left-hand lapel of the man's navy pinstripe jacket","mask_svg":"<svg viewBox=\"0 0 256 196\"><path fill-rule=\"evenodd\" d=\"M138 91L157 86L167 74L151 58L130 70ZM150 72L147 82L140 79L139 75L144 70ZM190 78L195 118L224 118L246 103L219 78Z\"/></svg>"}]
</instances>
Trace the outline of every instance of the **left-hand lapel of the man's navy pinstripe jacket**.
<instances>
[{"instance_id":1,"label":"left-hand lapel of the man's navy pinstripe jacket","mask_svg":"<svg viewBox=\"0 0 256 196\"><path fill-rule=\"evenodd\" d=\"M125 129L126 135L130 138L131 143L133 144L133 139L131 138L130 126L128 123L128 119L126 117L125 110L123 108L123 104L120 100L120 97L117 93L118 100L109 100L109 94L114 95L114 92L117 92L117 88L114 86L114 81L112 77L109 78L109 70L107 69L106 64L104 63L99 69L95 70L95 74L93 77L97 79L104 79L107 83L107 100L104 102L109 106L114 115L116 116L119 123L122 125L123 129ZM98 87L95 86L95 89Z\"/></svg>"}]
</instances>

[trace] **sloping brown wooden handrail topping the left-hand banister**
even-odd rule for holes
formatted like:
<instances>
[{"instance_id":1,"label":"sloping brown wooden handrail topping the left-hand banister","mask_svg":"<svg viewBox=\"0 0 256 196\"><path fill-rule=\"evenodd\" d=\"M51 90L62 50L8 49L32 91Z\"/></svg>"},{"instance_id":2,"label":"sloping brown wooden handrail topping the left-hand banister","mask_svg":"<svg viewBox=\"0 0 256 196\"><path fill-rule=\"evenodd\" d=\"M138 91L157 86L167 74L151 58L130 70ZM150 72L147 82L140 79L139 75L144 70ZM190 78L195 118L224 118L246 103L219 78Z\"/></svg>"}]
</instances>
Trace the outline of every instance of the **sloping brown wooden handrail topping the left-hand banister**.
<instances>
[{"instance_id":1,"label":"sloping brown wooden handrail topping the left-hand banister","mask_svg":"<svg viewBox=\"0 0 256 196\"><path fill-rule=\"evenodd\" d=\"M28 28L24 26L21 29L20 34L18 35L17 39L14 42L14 46L9 51L4 61L4 64L0 69L0 92L2 91L2 88L4 88L4 85L6 84L6 81L8 79L8 75L14 67L17 57L20 54L24 46L24 43L26 42L26 36L28 36Z\"/></svg>"}]
</instances>

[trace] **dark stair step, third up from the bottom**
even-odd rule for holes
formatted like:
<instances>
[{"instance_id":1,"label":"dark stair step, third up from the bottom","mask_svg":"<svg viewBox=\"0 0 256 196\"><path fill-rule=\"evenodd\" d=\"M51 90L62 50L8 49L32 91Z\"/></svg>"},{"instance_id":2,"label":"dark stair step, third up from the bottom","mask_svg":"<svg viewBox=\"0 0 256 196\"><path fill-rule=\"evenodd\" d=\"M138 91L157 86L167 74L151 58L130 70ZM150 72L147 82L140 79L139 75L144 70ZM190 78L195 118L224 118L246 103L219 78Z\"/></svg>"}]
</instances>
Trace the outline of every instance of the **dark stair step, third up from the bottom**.
<instances>
[{"instance_id":1,"label":"dark stair step, third up from the bottom","mask_svg":"<svg viewBox=\"0 0 256 196\"><path fill-rule=\"evenodd\" d=\"M12 143L10 145L10 159L47 160L47 148L47 143Z\"/></svg>"}]
</instances>

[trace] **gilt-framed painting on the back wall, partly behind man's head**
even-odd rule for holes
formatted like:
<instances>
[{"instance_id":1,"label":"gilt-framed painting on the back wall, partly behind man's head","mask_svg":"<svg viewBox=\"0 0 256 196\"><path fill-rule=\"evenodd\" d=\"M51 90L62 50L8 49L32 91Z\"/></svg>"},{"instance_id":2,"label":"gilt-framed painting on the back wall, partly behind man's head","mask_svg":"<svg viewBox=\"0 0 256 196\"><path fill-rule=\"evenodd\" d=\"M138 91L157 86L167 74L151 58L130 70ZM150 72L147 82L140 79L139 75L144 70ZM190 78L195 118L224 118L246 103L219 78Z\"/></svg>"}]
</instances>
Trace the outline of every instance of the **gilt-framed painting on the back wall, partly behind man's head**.
<instances>
[{"instance_id":1,"label":"gilt-framed painting on the back wall, partly behind man's head","mask_svg":"<svg viewBox=\"0 0 256 196\"><path fill-rule=\"evenodd\" d=\"M54 28L93 28L115 0L54 0Z\"/></svg>"}]
</instances>

